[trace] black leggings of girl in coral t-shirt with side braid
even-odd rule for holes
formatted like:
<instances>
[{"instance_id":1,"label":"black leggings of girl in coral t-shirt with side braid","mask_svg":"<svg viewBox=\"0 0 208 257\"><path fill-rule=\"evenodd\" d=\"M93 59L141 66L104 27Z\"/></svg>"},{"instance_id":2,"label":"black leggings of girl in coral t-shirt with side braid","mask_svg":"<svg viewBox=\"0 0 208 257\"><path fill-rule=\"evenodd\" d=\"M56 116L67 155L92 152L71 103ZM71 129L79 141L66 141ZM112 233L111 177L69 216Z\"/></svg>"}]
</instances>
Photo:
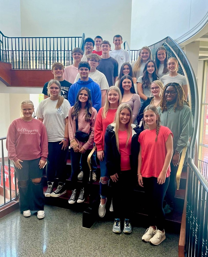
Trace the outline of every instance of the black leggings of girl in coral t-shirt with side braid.
<instances>
[{"instance_id":1,"label":"black leggings of girl in coral t-shirt with side braid","mask_svg":"<svg viewBox=\"0 0 208 257\"><path fill-rule=\"evenodd\" d=\"M150 226L157 226L159 230L164 229L165 213L163 210L163 200L169 185L170 177L165 179L165 183L159 185L157 178L142 178L147 199L148 219Z\"/></svg>"}]
</instances>

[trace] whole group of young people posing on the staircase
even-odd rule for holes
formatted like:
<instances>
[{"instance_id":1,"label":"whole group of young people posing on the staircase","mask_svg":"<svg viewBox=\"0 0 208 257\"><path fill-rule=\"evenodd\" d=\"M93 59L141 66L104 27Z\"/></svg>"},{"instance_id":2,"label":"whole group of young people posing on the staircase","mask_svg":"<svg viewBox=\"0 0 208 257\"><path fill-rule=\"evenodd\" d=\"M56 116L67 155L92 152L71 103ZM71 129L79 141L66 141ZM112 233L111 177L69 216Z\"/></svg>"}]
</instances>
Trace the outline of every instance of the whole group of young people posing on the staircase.
<instances>
[{"instance_id":1,"label":"whole group of young people posing on the staircase","mask_svg":"<svg viewBox=\"0 0 208 257\"><path fill-rule=\"evenodd\" d=\"M87 38L85 54L73 49L72 65L53 64L54 79L45 83L36 112L30 100L21 103L21 116L9 126L6 141L17 174L20 211L29 217L31 210L38 210L37 217L45 217L46 160L45 197L66 193L68 149L68 203L84 202L90 175L87 157L95 144L101 173L99 216L106 214L110 184L113 232L121 233L123 221L123 232L131 233L132 194L138 181L148 199L150 225L142 240L158 245L165 239L165 213L174 208L180 153L192 133L188 81L177 73L178 61L168 59L165 48L157 49L154 61L150 49L143 47L131 65L128 51L121 49L122 37L115 35L113 43L115 50L110 51L110 43L100 36ZM92 166L95 181L95 155Z\"/></svg>"}]
</instances>

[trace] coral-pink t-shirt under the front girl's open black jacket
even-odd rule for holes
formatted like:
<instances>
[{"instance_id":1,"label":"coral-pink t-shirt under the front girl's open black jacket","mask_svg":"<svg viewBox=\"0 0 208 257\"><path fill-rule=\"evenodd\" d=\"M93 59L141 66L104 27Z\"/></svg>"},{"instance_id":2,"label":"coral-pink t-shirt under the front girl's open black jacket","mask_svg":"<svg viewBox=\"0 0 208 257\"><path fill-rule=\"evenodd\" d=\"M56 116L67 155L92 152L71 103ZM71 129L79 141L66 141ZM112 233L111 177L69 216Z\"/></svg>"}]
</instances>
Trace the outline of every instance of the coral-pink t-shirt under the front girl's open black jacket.
<instances>
[{"instance_id":1,"label":"coral-pink t-shirt under the front girl's open black jacket","mask_svg":"<svg viewBox=\"0 0 208 257\"><path fill-rule=\"evenodd\" d=\"M127 131L118 131L118 139L119 139L119 152L121 154L121 171L122 170L130 170L130 155L131 155L131 136L129 138L129 142L126 148L128 133Z\"/></svg>"}]
</instances>

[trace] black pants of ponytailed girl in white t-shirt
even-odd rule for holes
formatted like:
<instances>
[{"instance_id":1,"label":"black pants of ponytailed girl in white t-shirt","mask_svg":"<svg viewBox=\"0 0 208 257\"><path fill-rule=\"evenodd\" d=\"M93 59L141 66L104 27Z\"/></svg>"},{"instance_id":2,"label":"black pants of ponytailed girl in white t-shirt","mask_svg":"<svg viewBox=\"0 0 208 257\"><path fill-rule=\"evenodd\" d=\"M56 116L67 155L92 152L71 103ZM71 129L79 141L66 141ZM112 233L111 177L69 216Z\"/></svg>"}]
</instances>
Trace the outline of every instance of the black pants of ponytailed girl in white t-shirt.
<instances>
[{"instance_id":1,"label":"black pants of ponytailed girl in white t-shirt","mask_svg":"<svg viewBox=\"0 0 208 257\"><path fill-rule=\"evenodd\" d=\"M55 175L59 182L65 183L66 181L66 150L61 150L63 144L59 144L61 141L48 142L48 158L46 166L47 181L54 182Z\"/></svg>"}]
</instances>

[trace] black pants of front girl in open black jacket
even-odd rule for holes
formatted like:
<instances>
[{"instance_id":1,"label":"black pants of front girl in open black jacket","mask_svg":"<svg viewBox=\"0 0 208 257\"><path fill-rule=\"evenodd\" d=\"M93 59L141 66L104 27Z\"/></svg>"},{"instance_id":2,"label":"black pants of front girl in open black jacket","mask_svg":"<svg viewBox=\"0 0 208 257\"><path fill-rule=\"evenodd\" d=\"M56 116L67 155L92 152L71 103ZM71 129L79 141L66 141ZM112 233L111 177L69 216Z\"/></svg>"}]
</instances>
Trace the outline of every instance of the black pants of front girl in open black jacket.
<instances>
[{"instance_id":1,"label":"black pants of front girl in open black jacket","mask_svg":"<svg viewBox=\"0 0 208 257\"><path fill-rule=\"evenodd\" d=\"M110 179L111 180L111 179ZM136 173L132 170L121 171L118 173L118 181L113 182L113 212L115 218L131 219L132 194L136 181Z\"/></svg>"}]
</instances>

